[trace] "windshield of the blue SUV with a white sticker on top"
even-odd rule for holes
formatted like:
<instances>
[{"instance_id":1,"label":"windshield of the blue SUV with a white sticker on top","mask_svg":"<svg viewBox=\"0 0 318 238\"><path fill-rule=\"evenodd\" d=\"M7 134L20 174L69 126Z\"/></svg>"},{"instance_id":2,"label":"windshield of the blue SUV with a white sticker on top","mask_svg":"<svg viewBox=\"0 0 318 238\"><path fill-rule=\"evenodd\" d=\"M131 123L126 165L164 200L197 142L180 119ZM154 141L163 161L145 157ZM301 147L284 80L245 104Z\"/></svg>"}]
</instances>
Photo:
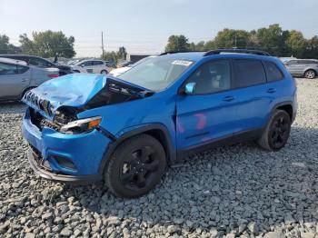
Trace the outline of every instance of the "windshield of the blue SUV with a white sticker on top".
<instances>
[{"instance_id":1,"label":"windshield of the blue SUV with a white sticker on top","mask_svg":"<svg viewBox=\"0 0 318 238\"><path fill-rule=\"evenodd\" d=\"M137 64L119 77L150 90L160 91L174 83L191 64L194 64L194 62L154 57L147 59L141 64Z\"/></svg>"}]
</instances>

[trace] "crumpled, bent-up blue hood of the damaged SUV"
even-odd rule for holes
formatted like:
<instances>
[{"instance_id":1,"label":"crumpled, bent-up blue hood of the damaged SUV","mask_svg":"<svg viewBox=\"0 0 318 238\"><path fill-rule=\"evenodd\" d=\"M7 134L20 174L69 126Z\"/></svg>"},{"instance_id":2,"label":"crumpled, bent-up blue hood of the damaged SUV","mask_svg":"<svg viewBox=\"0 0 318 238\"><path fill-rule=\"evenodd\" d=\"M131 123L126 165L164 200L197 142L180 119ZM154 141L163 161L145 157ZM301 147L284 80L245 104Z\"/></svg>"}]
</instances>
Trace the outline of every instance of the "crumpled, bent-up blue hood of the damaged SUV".
<instances>
[{"instance_id":1,"label":"crumpled, bent-up blue hood of the damaged SUV","mask_svg":"<svg viewBox=\"0 0 318 238\"><path fill-rule=\"evenodd\" d=\"M53 119L55 111L61 106L84 107L107 85L107 80L140 92L147 91L144 87L105 74L66 74L32 89L25 94L22 101L46 118Z\"/></svg>"}]
</instances>

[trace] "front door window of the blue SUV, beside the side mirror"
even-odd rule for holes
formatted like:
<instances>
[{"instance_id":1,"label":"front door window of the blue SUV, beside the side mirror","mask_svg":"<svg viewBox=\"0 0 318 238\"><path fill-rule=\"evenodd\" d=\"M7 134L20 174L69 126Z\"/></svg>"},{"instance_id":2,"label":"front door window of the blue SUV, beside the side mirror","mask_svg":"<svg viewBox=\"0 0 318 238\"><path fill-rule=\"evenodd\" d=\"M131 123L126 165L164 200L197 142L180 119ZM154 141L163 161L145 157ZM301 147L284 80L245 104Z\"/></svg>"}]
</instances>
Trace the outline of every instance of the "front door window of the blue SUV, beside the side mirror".
<instances>
[{"instance_id":1,"label":"front door window of the blue SUV, beside the side mirror","mask_svg":"<svg viewBox=\"0 0 318 238\"><path fill-rule=\"evenodd\" d=\"M194 94L213 94L231 88L229 60L211 61L200 66L188 80L195 83Z\"/></svg>"}]
</instances>

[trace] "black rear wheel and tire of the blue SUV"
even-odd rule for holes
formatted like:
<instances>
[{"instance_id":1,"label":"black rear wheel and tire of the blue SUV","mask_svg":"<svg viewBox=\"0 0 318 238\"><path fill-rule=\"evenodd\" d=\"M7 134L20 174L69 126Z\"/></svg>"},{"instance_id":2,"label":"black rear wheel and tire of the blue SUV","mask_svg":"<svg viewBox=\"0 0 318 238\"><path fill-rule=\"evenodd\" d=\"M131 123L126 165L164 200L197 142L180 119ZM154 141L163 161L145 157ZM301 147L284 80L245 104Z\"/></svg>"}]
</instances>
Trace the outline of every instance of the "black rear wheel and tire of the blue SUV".
<instances>
[{"instance_id":1,"label":"black rear wheel and tire of the blue SUV","mask_svg":"<svg viewBox=\"0 0 318 238\"><path fill-rule=\"evenodd\" d=\"M291 124L289 114L283 110L276 110L263 131L262 137L257 140L257 144L268 151L279 151L287 143Z\"/></svg>"}]
</instances>

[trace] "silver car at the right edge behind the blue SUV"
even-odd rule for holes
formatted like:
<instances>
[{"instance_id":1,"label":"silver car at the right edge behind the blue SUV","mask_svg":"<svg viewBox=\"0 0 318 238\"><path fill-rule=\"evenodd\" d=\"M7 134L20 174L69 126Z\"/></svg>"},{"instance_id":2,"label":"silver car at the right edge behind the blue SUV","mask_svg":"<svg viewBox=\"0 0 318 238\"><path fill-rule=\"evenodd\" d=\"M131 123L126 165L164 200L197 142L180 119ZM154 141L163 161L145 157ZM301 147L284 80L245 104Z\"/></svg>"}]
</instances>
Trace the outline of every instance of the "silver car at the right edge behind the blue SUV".
<instances>
[{"instance_id":1,"label":"silver car at the right edge behind the blue SUV","mask_svg":"<svg viewBox=\"0 0 318 238\"><path fill-rule=\"evenodd\" d=\"M318 75L318 60L291 59L283 62L293 76L314 78Z\"/></svg>"}]
</instances>

